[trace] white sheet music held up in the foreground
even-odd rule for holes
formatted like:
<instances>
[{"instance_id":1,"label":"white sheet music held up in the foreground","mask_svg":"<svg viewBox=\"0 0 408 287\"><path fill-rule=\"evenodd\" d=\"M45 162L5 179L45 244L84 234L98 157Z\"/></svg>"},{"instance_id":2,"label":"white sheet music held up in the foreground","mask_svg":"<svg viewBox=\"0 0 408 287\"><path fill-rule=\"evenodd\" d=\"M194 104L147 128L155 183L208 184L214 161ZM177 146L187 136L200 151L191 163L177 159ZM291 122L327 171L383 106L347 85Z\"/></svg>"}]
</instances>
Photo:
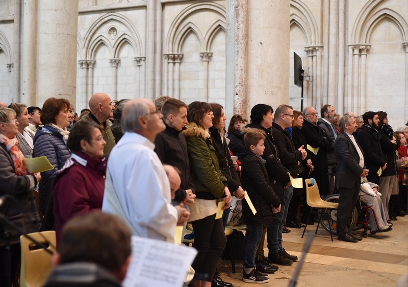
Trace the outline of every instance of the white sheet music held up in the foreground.
<instances>
[{"instance_id":1,"label":"white sheet music held up in the foreground","mask_svg":"<svg viewBox=\"0 0 408 287\"><path fill-rule=\"evenodd\" d=\"M124 287L181 287L197 251L164 241L132 236L132 262Z\"/></svg>"}]
</instances>

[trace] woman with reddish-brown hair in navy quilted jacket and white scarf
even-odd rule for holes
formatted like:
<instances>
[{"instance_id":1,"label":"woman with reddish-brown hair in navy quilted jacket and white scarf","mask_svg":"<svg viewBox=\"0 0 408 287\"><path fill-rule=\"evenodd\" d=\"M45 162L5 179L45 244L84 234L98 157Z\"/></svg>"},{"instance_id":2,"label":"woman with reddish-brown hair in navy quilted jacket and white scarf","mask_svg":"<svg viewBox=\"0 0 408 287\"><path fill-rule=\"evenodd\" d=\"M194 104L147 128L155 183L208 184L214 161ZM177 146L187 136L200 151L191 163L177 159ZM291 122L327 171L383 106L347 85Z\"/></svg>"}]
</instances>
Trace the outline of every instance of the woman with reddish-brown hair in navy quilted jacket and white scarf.
<instances>
[{"instance_id":1,"label":"woman with reddish-brown hair in navy quilted jacket and white scarf","mask_svg":"<svg viewBox=\"0 0 408 287\"><path fill-rule=\"evenodd\" d=\"M42 172L42 180L39 184L39 205L40 211L50 215L49 221L44 218L44 228L51 229L54 219L52 216L52 202L48 198L52 195L54 179L65 161L70 157L66 142L69 132L69 101L65 99L49 98L44 102L41 112L41 122L44 125L39 127L34 136L33 157L46 156L54 169ZM52 197L51 197L52 198ZM43 224L44 224L43 223ZM47 224L50 226L47 226ZM47 227L45 227L47 226Z\"/></svg>"}]
</instances>

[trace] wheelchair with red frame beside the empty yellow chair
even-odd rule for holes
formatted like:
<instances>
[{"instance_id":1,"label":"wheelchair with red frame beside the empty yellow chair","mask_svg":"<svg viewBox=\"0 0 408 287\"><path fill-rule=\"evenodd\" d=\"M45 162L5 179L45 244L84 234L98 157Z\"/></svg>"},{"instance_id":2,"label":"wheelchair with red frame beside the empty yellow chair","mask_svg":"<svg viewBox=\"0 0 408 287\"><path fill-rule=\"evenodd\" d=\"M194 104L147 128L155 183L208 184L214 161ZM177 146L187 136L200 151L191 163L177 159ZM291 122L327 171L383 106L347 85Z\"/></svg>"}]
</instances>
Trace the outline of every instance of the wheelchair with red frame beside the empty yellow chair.
<instances>
[{"instance_id":1,"label":"wheelchair with red frame beside the empty yellow chair","mask_svg":"<svg viewBox=\"0 0 408 287\"><path fill-rule=\"evenodd\" d=\"M328 202L335 202L338 203L339 202L339 197L340 195L338 194L333 194L333 195L329 195L327 196L324 201L328 201ZM337 235L337 209L331 209L328 211L328 214L325 210L319 210L322 211L322 214L320 216L320 224L321 226L323 226L323 228L327 231L330 232L330 226L329 224L331 224L331 233L333 235ZM371 211L371 213L370 213ZM362 237L367 237L367 230L368 230L368 219L369 217L372 216L375 219L375 223L377 224L377 228L378 228L378 222L377 222L377 218L375 217L375 212L374 209L371 206L367 206L364 203L362 203L360 201L360 196L359 196L359 200L356 204L356 206L354 207L354 210L350 216L350 226L351 226L351 230L360 230L363 229L364 230L361 232L361 236ZM371 234L375 234L377 233L377 231L371 231Z\"/></svg>"}]
</instances>

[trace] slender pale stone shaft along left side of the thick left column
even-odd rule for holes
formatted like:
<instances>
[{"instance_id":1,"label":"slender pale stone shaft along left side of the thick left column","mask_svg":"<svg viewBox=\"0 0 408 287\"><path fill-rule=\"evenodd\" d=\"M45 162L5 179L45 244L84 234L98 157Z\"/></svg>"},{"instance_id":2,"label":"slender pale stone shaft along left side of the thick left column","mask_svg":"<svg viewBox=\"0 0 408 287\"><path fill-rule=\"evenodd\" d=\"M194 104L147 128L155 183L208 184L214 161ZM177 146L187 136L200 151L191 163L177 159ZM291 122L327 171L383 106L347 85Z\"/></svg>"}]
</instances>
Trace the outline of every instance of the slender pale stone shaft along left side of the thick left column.
<instances>
[{"instance_id":1,"label":"slender pale stone shaft along left side of the thick left column","mask_svg":"<svg viewBox=\"0 0 408 287\"><path fill-rule=\"evenodd\" d=\"M78 4L77 4L78 6ZM36 105L36 51L37 51L37 0L23 0L22 3L22 54L21 54L21 97L27 106ZM78 19L78 9L77 9ZM55 26L53 25L55 28ZM76 27L76 26L75 26ZM75 31L75 37L77 32ZM19 37L19 35L16 35ZM40 43L40 42L39 42ZM75 40L76 43L76 40ZM76 49L75 44L75 49ZM45 51L51 49L44 45ZM58 94L54 93L53 97ZM17 100L17 99L16 99ZM38 103L42 107L42 103Z\"/></svg>"}]
</instances>

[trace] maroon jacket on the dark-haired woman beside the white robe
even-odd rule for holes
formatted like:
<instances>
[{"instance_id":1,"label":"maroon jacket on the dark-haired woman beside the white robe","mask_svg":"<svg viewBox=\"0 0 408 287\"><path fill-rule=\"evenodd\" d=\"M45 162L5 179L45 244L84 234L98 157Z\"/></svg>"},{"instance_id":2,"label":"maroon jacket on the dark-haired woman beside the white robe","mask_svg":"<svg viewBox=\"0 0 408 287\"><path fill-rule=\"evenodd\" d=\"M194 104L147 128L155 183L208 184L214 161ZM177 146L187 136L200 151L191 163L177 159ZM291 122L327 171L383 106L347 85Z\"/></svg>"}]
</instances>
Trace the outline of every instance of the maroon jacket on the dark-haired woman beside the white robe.
<instances>
[{"instance_id":1,"label":"maroon jacket on the dark-haired woman beside the white robe","mask_svg":"<svg viewBox=\"0 0 408 287\"><path fill-rule=\"evenodd\" d=\"M102 209L106 158L72 153L58 173L53 188L57 242L64 224L77 214Z\"/></svg>"}]
</instances>

